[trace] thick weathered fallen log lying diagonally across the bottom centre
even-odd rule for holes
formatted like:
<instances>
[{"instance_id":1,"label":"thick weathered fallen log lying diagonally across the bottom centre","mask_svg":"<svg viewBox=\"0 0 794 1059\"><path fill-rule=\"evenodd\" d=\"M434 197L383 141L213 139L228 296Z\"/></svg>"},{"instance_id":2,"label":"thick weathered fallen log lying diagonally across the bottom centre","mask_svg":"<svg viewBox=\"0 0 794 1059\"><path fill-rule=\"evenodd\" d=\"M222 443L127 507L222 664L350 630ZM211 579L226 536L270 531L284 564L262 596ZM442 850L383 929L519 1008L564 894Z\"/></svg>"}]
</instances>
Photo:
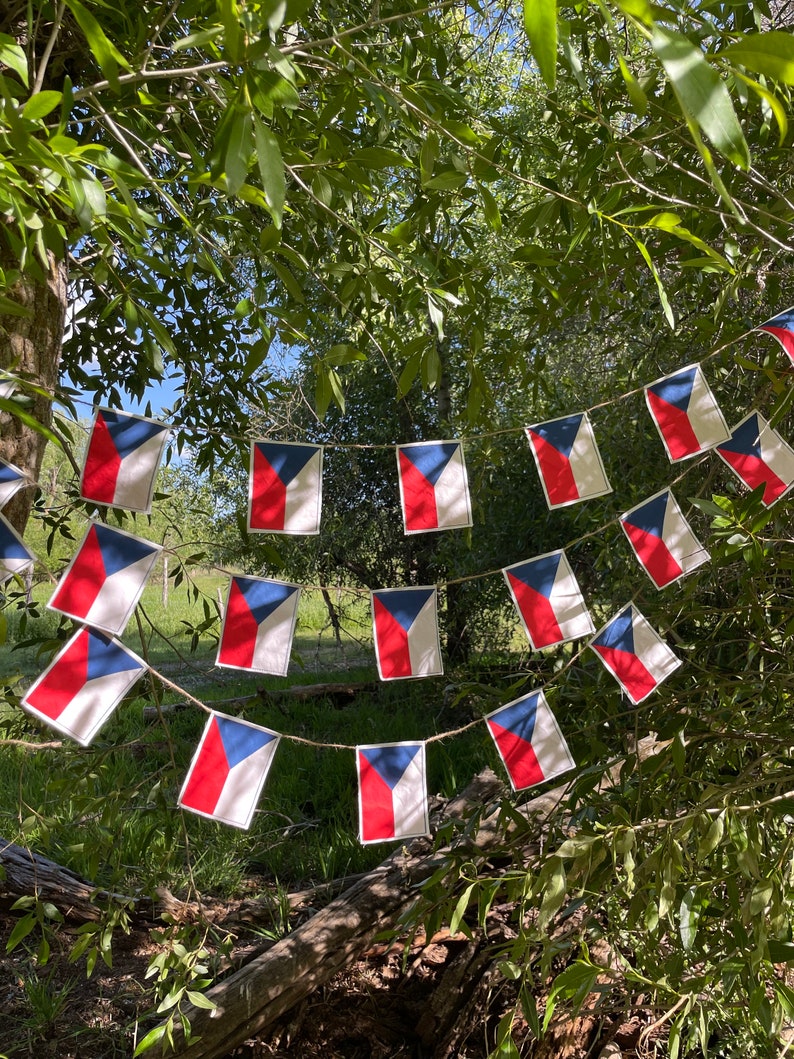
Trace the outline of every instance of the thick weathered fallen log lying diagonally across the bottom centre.
<instances>
[{"instance_id":1,"label":"thick weathered fallen log lying diagonally across the bottom centre","mask_svg":"<svg viewBox=\"0 0 794 1059\"><path fill-rule=\"evenodd\" d=\"M667 743L649 738L637 748L645 759ZM599 784L613 786L625 760L608 769ZM526 821L542 831L549 818L569 796L574 780L561 785L517 807ZM501 785L489 770L475 777L459 798L447 806L446 815L465 818L472 808L485 807ZM500 809L490 812L475 833L464 833L454 846L433 851L426 840L395 851L381 865L355 883L325 909L266 953L207 990L212 1010L184 1005L181 1009L191 1026L186 1044L179 1023L174 1026L175 1049L190 1059L221 1059L248 1038L271 1026L276 1019L343 968L350 966L384 929L394 927L400 915L417 899L418 886L449 863L455 850L486 858L505 840L511 826Z\"/></svg>"}]
</instances>

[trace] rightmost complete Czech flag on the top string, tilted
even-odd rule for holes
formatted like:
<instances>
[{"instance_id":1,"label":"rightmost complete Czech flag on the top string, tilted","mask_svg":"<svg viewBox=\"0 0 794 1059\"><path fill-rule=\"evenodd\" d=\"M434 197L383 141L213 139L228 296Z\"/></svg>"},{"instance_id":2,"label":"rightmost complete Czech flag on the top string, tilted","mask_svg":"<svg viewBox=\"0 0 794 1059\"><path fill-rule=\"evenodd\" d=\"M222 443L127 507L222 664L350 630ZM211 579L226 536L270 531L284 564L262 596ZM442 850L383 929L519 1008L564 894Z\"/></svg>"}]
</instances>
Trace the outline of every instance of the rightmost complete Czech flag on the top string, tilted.
<instances>
[{"instance_id":1,"label":"rightmost complete Czech flag on the top string, tilted","mask_svg":"<svg viewBox=\"0 0 794 1059\"><path fill-rule=\"evenodd\" d=\"M652 382L645 399L671 463L697 456L730 436L700 364Z\"/></svg>"}]
</instances>

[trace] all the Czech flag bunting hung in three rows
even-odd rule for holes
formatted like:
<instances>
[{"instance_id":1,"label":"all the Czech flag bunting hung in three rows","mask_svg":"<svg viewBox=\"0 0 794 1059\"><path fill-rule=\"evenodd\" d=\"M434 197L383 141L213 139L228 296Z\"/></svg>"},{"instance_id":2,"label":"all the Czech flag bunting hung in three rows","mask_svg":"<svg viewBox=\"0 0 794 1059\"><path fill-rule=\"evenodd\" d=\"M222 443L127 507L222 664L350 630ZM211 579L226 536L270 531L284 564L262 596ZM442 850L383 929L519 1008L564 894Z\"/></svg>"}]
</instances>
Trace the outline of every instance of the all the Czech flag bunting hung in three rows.
<instances>
[{"instance_id":1,"label":"all the Czech flag bunting hung in three rows","mask_svg":"<svg viewBox=\"0 0 794 1059\"><path fill-rule=\"evenodd\" d=\"M794 309L758 330L771 334L794 363ZM0 396L8 393L3 383ZM762 502L776 503L794 486L794 450L757 411L733 430L700 364L645 388L646 402L671 463L716 451ZM97 505L148 514L169 428L144 416L100 409L80 474L80 496ZM587 412L525 428L551 508L611 490ZM457 441L396 446L407 534L472 524L463 446ZM251 533L319 534L323 447L292 442L251 444L248 528ZM30 485L0 461L0 507ZM670 488L619 517L642 568L664 589L708 561ZM148 671L116 639L154 570L161 546L91 521L48 607L83 623L22 698L22 707L50 728L88 746L116 705ZM0 585L35 561L0 515ZM534 650L591 638L588 646L638 705L682 664L633 603L599 631L563 549L502 570ZM286 676L301 587L231 575L216 665ZM373 640L381 680L444 671L437 587L372 592ZM190 811L232 826L250 826L279 739L250 721L207 710L199 746L179 795ZM554 778L575 762L542 690L483 718L513 790ZM289 738L289 737L287 737ZM364 843L408 839L429 829L426 743L357 747L359 829Z\"/></svg>"}]
</instances>

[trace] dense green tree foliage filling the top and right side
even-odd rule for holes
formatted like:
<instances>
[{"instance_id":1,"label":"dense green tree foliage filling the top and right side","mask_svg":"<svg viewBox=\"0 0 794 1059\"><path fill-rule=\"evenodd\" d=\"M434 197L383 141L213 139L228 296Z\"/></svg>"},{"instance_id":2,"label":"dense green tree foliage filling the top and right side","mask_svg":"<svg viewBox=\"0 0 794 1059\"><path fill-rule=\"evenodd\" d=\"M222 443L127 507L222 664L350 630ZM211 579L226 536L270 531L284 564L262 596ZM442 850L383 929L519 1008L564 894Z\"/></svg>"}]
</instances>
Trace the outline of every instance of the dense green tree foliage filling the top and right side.
<instances>
[{"instance_id":1,"label":"dense green tree foliage filling the top and right side","mask_svg":"<svg viewBox=\"0 0 794 1059\"><path fill-rule=\"evenodd\" d=\"M329 462L338 510L317 551L235 555L324 582L418 567L455 580L564 534L581 538L601 608L639 593L698 678L627 714L577 665L581 842L553 833L528 874L517 863L469 893L520 891L521 982L539 948L551 966L546 928L575 893L592 914L565 951L584 976L556 1003L581 1001L597 928L622 954L625 997L655 990L658 1012L679 1013L671 1051L687 1035L707 1045L743 1006L762 1051L791 1008L775 970L790 951L790 526L704 473L692 492L702 528L714 520L712 568L660 598L615 560L612 531L589 536L589 513L560 520L526 499L526 452L522 469L519 434L501 432L711 353L732 421L758 402L790 424L790 365L742 338L794 301L790 30L783 3L637 0L42 0L0 18L0 369L19 380L0 397L0 455L40 479L59 375L114 403L175 373L177 445L199 471L245 466L252 429L471 436L471 541L407 543L394 493L376 492L383 453L350 450ZM598 417L625 492L596 522L669 475L640 415L635 396ZM32 500L4 514L21 527ZM470 616L501 605L481 591L458 604L465 660ZM471 671L455 676L465 687ZM594 793L599 762L651 729L668 753ZM444 883L449 912L454 866Z\"/></svg>"}]
</instances>

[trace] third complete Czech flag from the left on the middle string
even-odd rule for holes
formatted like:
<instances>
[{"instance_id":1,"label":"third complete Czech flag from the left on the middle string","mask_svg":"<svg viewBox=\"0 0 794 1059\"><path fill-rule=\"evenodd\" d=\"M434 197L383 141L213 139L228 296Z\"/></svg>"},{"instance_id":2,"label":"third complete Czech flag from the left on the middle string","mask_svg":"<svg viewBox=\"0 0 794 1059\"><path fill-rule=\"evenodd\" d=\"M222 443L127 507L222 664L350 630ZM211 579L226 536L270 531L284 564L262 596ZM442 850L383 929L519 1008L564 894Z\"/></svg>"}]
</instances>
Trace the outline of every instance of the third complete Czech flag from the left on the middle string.
<instances>
[{"instance_id":1,"label":"third complete Czech flag from the left on the middle string","mask_svg":"<svg viewBox=\"0 0 794 1059\"><path fill-rule=\"evenodd\" d=\"M375 654L381 680L444 672L435 588L373 592Z\"/></svg>"}]
</instances>

